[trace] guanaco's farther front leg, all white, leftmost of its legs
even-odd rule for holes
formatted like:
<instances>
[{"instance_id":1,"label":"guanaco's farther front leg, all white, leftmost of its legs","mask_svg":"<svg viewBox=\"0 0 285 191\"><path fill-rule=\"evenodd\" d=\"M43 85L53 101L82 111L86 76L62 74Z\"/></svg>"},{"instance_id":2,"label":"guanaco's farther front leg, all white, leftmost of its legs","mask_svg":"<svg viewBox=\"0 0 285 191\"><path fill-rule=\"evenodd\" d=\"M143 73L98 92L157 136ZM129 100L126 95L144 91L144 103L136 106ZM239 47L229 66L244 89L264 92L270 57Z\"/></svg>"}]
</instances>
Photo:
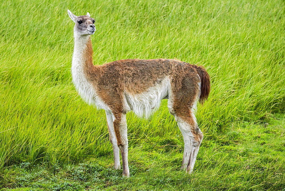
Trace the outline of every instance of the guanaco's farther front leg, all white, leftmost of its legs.
<instances>
[{"instance_id":1,"label":"guanaco's farther front leg, all white, leftmost of its legs","mask_svg":"<svg viewBox=\"0 0 285 191\"><path fill-rule=\"evenodd\" d=\"M112 143L113 152L114 152L114 169L120 170L121 169L120 149L117 144L117 138L114 130L113 114L111 112L106 111L106 118L107 118L107 125L109 131L109 140Z\"/></svg>"}]
</instances>

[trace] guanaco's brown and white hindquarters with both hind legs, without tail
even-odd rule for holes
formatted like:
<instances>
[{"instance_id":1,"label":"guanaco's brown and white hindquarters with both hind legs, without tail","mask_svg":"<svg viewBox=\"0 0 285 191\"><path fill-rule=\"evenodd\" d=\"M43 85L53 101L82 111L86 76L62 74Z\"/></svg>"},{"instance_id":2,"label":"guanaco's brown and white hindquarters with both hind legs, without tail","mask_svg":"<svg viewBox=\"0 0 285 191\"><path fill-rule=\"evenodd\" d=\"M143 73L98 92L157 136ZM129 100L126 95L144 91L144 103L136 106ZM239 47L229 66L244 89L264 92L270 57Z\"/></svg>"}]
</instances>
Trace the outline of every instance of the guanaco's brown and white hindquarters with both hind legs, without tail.
<instances>
[{"instance_id":1,"label":"guanaco's brown and white hindquarters with both hind legs, without tail","mask_svg":"<svg viewBox=\"0 0 285 191\"><path fill-rule=\"evenodd\" d=\"M182 67L182 66L181 66ZM175 117L184 139L184 153L181 169L192 173L203 133L194 116L194 108L200 97L200 77L188 67L183 66L184 73L174 73L169 91L168 108Z\"/></svg>"}]
</instances>

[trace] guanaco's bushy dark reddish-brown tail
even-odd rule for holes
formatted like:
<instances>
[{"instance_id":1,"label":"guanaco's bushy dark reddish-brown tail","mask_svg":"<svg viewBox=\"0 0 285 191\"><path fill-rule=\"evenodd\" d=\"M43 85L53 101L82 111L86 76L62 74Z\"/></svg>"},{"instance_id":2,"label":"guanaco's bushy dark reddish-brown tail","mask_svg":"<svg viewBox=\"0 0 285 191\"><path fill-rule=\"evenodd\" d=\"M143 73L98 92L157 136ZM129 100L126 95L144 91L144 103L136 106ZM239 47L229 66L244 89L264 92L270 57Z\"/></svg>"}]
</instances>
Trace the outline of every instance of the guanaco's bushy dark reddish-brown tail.
<instances>
[{"instance_id":1,"label":"guanaco's bushy dark reddish-brown tail","mask_svg":"<svg viewBox=\"0 0 285 191\"><path fill-rule=\"evenodd\" d=\"M208 99L208 96L211 90L210 76L203 66L197 66L196 69L201 79L201 94L200 94L199 102L203 104L205 100Z\"/></svg>"}]
</instances>

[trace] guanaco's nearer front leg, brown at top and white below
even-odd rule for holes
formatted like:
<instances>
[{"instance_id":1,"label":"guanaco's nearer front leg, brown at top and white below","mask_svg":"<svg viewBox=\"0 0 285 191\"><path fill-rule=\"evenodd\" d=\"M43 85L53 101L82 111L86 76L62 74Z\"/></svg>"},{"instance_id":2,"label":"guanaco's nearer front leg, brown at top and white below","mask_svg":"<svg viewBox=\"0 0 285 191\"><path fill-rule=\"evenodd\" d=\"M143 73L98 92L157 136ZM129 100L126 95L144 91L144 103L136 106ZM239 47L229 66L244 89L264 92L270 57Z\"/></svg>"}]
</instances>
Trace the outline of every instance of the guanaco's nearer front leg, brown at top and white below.
<instances>
[{"instance_id":1,"label":"guanaco's nearer front leg, brown at top and white below","mask_svg":"<svg viewBox=\"0 0 285 191\"><path fill-rule=\"evenodd\" d=\"M121 156L123 161L123 176L130 176L129 164L128 164L128 138L127 138L127 119L126 114L119 113L114 114L115 120L114 130L117 137L117 144L121 150Z\"/></svg>"}]
</instances>

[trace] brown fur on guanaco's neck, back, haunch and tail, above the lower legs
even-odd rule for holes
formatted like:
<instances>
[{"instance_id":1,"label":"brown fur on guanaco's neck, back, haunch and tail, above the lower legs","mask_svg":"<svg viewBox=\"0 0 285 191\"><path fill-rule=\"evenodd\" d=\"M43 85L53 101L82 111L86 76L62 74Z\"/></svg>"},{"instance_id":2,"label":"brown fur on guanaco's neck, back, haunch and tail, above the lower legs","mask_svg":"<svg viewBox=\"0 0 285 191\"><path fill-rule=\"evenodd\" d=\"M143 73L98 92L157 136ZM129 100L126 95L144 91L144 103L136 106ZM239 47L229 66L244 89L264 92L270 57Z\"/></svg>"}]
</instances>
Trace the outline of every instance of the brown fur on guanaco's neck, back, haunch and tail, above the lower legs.
<instances>
[{"instance_id":1,"label":"brown fur on guanaco's neck, back, haunch and tail, above the lower legs","mask_svg":"<svg viewBox=\"0 0 285 191\"><path fill-rule=\"evenodd\" d=\"M90 39L84 53L86 77L96 87L98 95L111 107L114 114L124 112L121 102L123 91L130 94L142 93L166 76L170 77L174 95L173 108L178 113L182 111L185 114L188 113L199 93L200 102L203 103L210 92L209 75L201 66L174 59L126 59L94 66ZM197 74L201 79L201 92Z\"/></svg>"}]
</instances>

